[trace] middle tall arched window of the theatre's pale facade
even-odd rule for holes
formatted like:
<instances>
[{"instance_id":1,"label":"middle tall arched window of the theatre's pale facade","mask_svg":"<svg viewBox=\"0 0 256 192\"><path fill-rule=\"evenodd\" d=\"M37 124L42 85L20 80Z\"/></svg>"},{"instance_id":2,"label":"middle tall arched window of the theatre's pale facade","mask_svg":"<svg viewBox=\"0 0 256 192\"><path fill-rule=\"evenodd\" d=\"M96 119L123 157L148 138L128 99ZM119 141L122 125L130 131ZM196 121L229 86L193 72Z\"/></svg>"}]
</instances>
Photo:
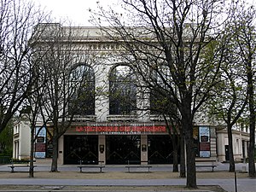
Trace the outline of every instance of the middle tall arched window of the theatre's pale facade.
<instances>
[{"instance_id":1,"label":"middle tall arched window of the theatre's pale facade","mask_svg":"<svg viewBox=\"0 0 256 192\"><path fill-rule=\"evenodd\" d=\"M114 67L109 75L109 114L136 114L137 86L128 66Z\"/></svg>"}]
</instances>

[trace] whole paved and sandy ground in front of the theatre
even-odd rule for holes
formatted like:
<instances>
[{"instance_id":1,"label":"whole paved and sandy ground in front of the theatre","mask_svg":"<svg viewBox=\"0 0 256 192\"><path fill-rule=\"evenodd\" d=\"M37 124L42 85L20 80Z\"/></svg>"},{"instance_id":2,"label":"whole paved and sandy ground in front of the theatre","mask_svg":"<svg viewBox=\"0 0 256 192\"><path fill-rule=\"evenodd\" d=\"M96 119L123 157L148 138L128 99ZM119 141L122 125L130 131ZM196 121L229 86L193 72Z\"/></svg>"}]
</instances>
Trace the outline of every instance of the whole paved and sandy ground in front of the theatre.
<instances>
[{"instance_id":1,"label":"whole paved and sandy ground in front of the theatre","mask_svg":"<svg viewBox=\"0 0 256 192\"><path fill-rule=\"evenodd\" d=\"M256 180L239 173L247 164L236 164L237 192L255 192ZM235 192L234 173L227 172L229 164L219 163L214 172L198 169L199 189L192 191ZM187 191L186 179L172 172L172 165L156 165L150 173L127 173L125 166L106 166L103 173L80 173L77 166L59 166L57 173L49 172L49 165L37 160L35 177L25 172L10 173L8 166L0 166L0 191ZM16 186L16 187L15 187ZM34 187L32 187L34 186ZM37 186L37 188L36 188ZM44 188L42 188L44 186ZM212 186L220 186L212 187ZM26 190L27 188L27 190ZM224 189L224 190L223 190ZM191 190L189 190L191 191Z\"/></svg>"}]
</instances>

